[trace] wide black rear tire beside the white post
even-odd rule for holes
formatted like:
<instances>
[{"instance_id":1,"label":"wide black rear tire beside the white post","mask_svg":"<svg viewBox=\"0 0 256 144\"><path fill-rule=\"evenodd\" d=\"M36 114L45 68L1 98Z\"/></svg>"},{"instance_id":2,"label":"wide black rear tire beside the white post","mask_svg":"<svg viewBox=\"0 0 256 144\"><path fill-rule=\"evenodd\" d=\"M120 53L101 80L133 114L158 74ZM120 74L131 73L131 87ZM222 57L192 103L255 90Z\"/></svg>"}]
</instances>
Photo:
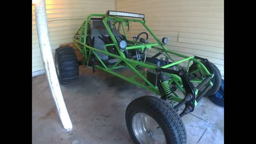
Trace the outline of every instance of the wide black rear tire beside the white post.
<instances>
[{"instance_id":1,"label":"wide black rear tire beside the white post","mask_svg":"<svg viewBox=\"0 0 256 144\"><path fill-rule=\"evenodd\" d=\"M61 84L77 81L79 65L73 47L62 46L55 50L55 68Z\"/></svg>"}]
</instances>

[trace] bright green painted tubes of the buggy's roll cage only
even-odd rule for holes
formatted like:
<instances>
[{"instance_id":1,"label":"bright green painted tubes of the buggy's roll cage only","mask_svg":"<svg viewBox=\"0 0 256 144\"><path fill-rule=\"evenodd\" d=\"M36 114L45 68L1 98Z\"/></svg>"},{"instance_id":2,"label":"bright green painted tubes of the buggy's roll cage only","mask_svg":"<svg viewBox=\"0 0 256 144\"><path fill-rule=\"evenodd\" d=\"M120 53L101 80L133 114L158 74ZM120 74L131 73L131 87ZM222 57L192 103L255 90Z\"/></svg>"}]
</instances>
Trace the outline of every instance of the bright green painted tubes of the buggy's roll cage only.
<instances>
[{"instance_id":1,"label":"bright green painted tubes of the buggy's roll cage only","mask_svg":"<svg viewBox=\"0 0 256 144\"><path fill-rule=\"evenodd\" d=\"M107 29L107 31L108 31L112 41L114 42L113 44L106 44L104 46L104 51L96 49L96 48L91 47L91 46L86 44L87 28L88 28L88 24L90 22L90 18L91 17L102 17L103 18L103 24L105 25L105 27L106 27L106 29ZM123 51L121 51L121 49L119 48L118 42L116 41L115 36L113 35L110 27L107 24L108 20L113 21L113 23L116 23L116 22L120 22L121 23L121 26L122 26L122 29L123 29L123 33L124 33L124 36L126 37L126 39L127 39L127 35L126 35L125 29L124 29L123 22L131 21L131 22L139 22L139 23L141 23L149 31L149 33L154 37L154 39L157 41L157 43L147 43L147 44L141 44L141 45L128 44L127 47L126 47L126 50L137 49L137 50L142 50L143 51L145 49L149 50L149 49L151 49L151 47L154 47L155 49L165 53L170 60L172 60L172 58L170 57L170 54L177 55L179 57L184 58L184 59L182 59L180 61L175 61L175 62L173 61L173 63L170 63L169 65L162 66L160 68L168 68L168 67L171 67L171 66L178 65L181 62L188 61L188 67L187 67L187 71L188 71L189 70L189 63L191 61L194 61L194 62L196 62L198 64L197 65L198 67L197 67L196 70L194 70L191 73L196 73L198 70L203 70L205 76L208 76L208 77L211 76L211 78L213 78L214 75L211 74L209 72L209 70L207 70L207 68L203 65L202 62L200 62L199 60L195 59L195 56L187 57L186 55L182 55L182 54L175 53L175 52L167 50L165 45L161 41L159 41L159 39L156 37L156 35L153 33L153 31L151 31L149 29L149 27L146 25L146 21L144 19L143 20L137 20L137 19L127 19L127 18L120 18L120 17L111 17L111 16L109 16L107 14L90 14L90 15L88 15L86 20L83 22L82 26L78 29L76 35L73 38L73 41L74 41L75 45L78 47L78 49L84 55L84 58L85 58L86 63L87 63L86 64L87 66L88 66L88 63L89 63L89 55L91 55L93 53L94 56L100 61L101 65L103 66L102 67L102 66L99 66L99 65L95 65L95 68L107 71L108 73L113 74L115 76L118 76L118 77L124 79L125 81L131 82L131 83L133 83L135 85L143 87L144 89L147 89L147 90L149 90L151 92L154 92L157 95L161 95L161 93L159 92L157 86L154 86L153 84L151 84L147 80L147 78L145 77L147 73L145 73L145 72L142 73L142 72L138 71L134 67L135 65L139 65L139 66L142 66L142 67L145 67L145 68L149 68L149 69L155 70L157 68L157 66L150 65L150 63L143 63L143 62L140 62L140 61L137 61L137 60L132 60L132 59L126 58L124 53L123 53ZM114 27L115 27L115 25L114 25ZM77 38L77 36L78 36L78 38ZM133 42L133 41L131 41L131 42ZM107 49L106 49L107 46L116 46L116 49L117 49L119 55L116 55L116 54L108 52ZM96 51L98 51L100 53L103 53L103 54L106 54L106 55L109 55L109 56L114 57L114 58L119 59L119 60L112 67L108 68L105 65L105 63L99 58L99 56L97 55ZM126 65L131 70L133 70L136 73L136 75L131 76L131 77L125 77L125 76L123 76L121 74L118 74L115 71L113 71L114 69L123 67L123 65L122 66L118 66L118 64L120 62L124 62L124 65ZM175 75L175 74L169 74L169 73L166 73L166 74L168 74L168 75L170 75L172 77L170 79L169 83L168 83L169 86L174 82L178 86L178 89L181 90L181 92L184 95L186 95L185 89L183 89L181 77L178 76L178 75ZM136 77L142 78L145 83L137 82L136 79L135 79ZM189 82L190 83L202 83L203 81L201 79L190 79ZM211 81L209 81L208 83L212 85ZM195 91L195 95L197 95L198 94L198 90L194 89L194 91ZM175 101L175 102L182 101L182 98L180 98L178 96L178 94L175 93L175 92L173 92L173 95L171 95L170 99ZM195 101L195 106L196 106L196 101Z\"/></svg>"}]
</instances>

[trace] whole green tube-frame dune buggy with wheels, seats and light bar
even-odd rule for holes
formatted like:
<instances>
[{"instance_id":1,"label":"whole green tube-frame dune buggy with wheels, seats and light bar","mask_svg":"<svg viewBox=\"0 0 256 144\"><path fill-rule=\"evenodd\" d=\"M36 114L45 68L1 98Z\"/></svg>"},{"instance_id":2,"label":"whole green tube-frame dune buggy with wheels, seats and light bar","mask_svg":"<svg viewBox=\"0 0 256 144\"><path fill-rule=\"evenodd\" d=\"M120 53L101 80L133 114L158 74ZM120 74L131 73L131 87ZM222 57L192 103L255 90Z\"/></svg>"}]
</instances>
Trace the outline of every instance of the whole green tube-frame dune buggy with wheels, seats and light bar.
<instances>
[{"instance_id":1,"label":"whole green tube-frame dune buggy with wheels, seats and light bar","mask_svg":"<svg viewBox=\"0 0 256 144\"><path fill-rule=\"evenodd\" d=\"M126 32L132 23L146 28L154 42L149 42L146 31L129 39ZM137 98L127 106L126 126L134 143L186 143L181 117L194 111L204 95L216 93L221 84L219 69L207 59L166 49L167 38L160 41L156 37L146 25L144 14L90 14L74 36L74 43L84 55L83 65L93 72L104 70L159 95ZM155 55L147 57L147 52L152 51ZM182 60L175 61L173 55ZM61 84L78 79L79 65L72 47L55 50L55 66ZM123 67L134 75L118 72ZM183 111L178 114L182 106Z\"/></svg>"}]
</instances>

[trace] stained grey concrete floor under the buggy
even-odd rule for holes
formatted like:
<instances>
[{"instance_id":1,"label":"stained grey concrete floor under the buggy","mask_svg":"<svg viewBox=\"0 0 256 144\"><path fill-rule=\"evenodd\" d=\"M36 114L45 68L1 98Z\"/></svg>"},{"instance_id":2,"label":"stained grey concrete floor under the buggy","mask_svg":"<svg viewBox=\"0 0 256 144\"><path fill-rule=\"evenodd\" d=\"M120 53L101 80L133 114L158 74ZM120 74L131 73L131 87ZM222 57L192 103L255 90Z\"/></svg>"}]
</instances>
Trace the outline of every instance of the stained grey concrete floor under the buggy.
<instances>
[{"instance_id":1,"label":"stained grey concrete floor under the buggy","mask_svg":"<svg viewBox=\"0 0 256 144\"><path fill-rule=\"evenodd\" d=\"M60 122L45 74L32 78L32 141L45 143L133 143L125 125L129 102L150 91L96 69L80 66L79 80L61 85L73 130ZM199 101L193 113L182 117L187 143L224 143L224 109L208 98Z\"/></svg>"}]
</instances>

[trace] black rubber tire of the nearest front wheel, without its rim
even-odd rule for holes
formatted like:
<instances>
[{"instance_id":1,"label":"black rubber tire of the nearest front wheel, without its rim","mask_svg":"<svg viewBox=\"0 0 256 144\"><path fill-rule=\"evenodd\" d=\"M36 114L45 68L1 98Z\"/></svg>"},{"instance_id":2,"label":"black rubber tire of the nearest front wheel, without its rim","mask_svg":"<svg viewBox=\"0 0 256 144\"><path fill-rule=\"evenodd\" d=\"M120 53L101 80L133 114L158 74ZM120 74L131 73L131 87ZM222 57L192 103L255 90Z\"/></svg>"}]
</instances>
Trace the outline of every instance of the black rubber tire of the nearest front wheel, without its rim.
<instances>
[{"instance_id":1,"label":"black rubber tire of the nearest front wheel, without its rim","mask_svg":"<svg viewBox=\"0 0 256 144\"><path fill-rule=\"evenodd\" d=\"M186 129L177 112L160 98L143 96L129 103L125 113L126 126L134 143L140 143L132 126L132 119L136 113L145 113L153 118L161 127L167 144L187 142Z\"/></svg>"}]
</instances>

